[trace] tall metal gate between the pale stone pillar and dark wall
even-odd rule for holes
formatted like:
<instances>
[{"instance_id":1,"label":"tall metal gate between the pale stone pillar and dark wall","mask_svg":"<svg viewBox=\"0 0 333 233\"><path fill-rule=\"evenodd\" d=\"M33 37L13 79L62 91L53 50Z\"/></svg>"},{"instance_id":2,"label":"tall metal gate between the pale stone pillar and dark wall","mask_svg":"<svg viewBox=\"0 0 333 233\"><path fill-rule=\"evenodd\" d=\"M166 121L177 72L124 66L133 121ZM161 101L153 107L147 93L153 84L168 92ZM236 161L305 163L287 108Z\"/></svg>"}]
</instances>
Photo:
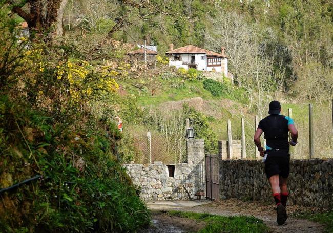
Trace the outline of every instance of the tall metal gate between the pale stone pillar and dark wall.
<instances>
[{"instance_id":1,"label":"tall metal gate between the pale stone pillar and dark wall","mask_svg":"<svg viewBox=\"0 0 333 233\"><path fill-rule=\"evenodd\" d=\"M219 199L219 156L206 154L206 199Z\"/></svg>"}]
</instances>

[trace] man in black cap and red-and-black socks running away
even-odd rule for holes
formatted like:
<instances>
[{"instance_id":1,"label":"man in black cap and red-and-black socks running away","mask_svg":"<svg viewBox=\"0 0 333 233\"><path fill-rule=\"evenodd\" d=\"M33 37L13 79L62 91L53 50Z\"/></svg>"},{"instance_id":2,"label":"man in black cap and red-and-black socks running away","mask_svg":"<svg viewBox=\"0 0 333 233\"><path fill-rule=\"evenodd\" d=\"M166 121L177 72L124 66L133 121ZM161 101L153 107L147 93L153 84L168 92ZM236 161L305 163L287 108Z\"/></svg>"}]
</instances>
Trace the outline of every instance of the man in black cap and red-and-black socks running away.
<instances>
[{"instance_id":1,"label":"man in black cap and red-and-black socks running away","mask_svg":"<svg viewBox=\"0 0 333 233\"><path fill-rule=\"evenodd\" d=\"M288 198L287 179L289 175L289 144L297 144L298 133L294 120L280 115L281 104L274 100L269 103L269 116L259 122L254 136L254 142L265 160L265 172L272 187L272 193L277 205L277 222L282 225L288 218L286 203ZM288 132L291 138L288 143ZM266 151L261 147L260 136L264 132L266 139Z\"/></svg>"}]
</instances>

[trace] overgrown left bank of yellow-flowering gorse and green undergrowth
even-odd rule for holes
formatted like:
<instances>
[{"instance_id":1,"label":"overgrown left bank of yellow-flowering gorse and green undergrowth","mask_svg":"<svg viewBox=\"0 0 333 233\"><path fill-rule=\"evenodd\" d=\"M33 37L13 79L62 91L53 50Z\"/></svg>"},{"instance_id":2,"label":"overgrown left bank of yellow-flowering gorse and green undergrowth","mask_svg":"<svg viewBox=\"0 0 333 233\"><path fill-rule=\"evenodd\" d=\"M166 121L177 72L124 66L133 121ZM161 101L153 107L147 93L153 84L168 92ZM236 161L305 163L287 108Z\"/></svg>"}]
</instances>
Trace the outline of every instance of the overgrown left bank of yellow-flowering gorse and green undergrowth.
<instances>
[{"instance_id":1,"label":"overgrown left bank of yellow-flowering gorse and green undergrowth","mask_svg":"<svg viewBox=\"0 0 333 233\"><path fill-rule=\"evenodd\" d=\"M126 135L91 105L115 95L113 77L127 66L70 61L61 44L21 39L31 44L23 46L11 36L15 27L10 32L2 25L6 15L0 33L10 41L1 43L12 46L0 52L0 69L10 71L0 74L0 188L35 175L43 179L1 194L0 232L135 232L147 226L149 211L121 167L127 151L117 144Z\"/></svg>"}]
</instances>

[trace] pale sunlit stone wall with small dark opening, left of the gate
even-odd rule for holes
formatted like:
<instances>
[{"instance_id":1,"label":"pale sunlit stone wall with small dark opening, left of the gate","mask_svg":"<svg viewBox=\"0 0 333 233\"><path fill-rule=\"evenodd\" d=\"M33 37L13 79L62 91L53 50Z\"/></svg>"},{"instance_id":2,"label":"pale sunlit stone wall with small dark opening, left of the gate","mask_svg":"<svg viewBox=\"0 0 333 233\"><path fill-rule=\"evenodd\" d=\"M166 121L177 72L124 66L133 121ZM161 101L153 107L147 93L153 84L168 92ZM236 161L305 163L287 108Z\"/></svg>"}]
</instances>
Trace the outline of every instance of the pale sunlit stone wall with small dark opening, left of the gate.
<instances>
[{"instance_id":1,"label":"pale sunlit stone wall with small dark opening, left of the gate","mask_svg":"<svg viewBox=\"0 0 333 233\"><path fill-rule=\"evenodd\" d=\"M134 184L141 187L144 200L190 200L205 197L203 139L188 139L187 163L124 164ZM170 177L169 166L174 166Z\"/></svg>"}]
</instances>

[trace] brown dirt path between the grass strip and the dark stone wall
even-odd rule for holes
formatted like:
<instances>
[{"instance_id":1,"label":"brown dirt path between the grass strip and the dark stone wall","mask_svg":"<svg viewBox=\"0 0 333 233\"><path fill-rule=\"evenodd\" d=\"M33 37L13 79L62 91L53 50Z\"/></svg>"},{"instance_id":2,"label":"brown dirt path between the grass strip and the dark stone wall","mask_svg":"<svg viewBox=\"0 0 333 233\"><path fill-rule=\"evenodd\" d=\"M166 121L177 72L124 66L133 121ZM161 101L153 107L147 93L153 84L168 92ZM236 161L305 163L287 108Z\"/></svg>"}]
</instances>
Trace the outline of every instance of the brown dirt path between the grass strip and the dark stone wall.
<instances>
[{"instance_id":1,"label":"brown dirt path between the grass strip and the dark stone wall","mask_svg":"<svg viewBox=\"0 0 333 233\"><path fill-rule=\"evenodd\" d=\"M292 213L297 211L297 206L287 207L287 211ZM304 209L302 207L302 209ZM176 208L174 210L191 211L196 213L210 213L214 215L234 216L234 215L253 215L272 230L272 232L281 233L316 233L323 232L324 226L310 222L308 220L295 219L289 217L285 224L279 226L276 222L276 210L274 205L263 206L256 202L242 202L238 200L227 200L211 202L204 205L194 206L191 208Z\"/></svg>"}]
</instances>

